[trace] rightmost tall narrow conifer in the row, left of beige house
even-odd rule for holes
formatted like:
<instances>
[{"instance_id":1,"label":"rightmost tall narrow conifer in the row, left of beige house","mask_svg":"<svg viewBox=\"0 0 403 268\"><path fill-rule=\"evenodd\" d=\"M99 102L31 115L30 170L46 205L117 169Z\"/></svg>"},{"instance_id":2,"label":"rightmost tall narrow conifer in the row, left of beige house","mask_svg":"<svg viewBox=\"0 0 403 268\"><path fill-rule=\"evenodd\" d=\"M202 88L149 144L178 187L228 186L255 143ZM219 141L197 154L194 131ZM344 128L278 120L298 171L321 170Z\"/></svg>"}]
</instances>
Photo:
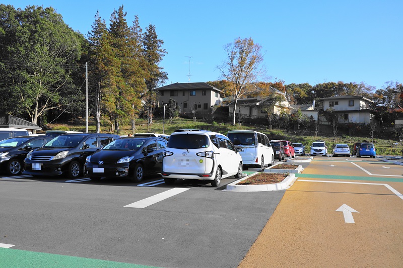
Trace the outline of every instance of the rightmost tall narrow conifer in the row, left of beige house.
<instances>
[{"instance_id":1,"label":"rightmost tall narrow conifer in the row, left of beige house","mask_svg":"<svg viewBox=\"0 0 403 268\"><path fill-rule=\"evenodd\" d=\"M144 100L148 108L148 124L153 123L153 108L155 106L156 92L155 88L159 87L168 79L168 74L163 71L163 67L158 66L162 58L167 53L165 49L162 48L164 41L158 39L157 33L155 31L155 26L150 24L146 28L146 32L143 35L143 47L144 47L144 59L146 62L146 85L147 94L144 94Z\"/></svg>"}]
</instances>

